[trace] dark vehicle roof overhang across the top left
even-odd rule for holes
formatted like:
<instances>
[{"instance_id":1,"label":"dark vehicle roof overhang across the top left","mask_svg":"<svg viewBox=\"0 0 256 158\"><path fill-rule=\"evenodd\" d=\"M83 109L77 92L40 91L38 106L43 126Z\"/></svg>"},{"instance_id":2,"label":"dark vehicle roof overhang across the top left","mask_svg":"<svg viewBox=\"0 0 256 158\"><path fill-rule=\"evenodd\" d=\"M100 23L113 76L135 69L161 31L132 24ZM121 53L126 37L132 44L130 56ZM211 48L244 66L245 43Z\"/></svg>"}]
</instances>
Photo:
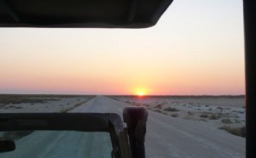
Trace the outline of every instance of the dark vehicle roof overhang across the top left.
<instances>
[{"instance_id":1,"label":"dark vehicle roof overhang across the top left","mask_svg":"<svg viewBox=\"0 0 256 158\"><path fill-rule=\"evenodd\" d=\"M146 28L172 0L3 0L0 27Z\"/></svg>"}]
</instances>

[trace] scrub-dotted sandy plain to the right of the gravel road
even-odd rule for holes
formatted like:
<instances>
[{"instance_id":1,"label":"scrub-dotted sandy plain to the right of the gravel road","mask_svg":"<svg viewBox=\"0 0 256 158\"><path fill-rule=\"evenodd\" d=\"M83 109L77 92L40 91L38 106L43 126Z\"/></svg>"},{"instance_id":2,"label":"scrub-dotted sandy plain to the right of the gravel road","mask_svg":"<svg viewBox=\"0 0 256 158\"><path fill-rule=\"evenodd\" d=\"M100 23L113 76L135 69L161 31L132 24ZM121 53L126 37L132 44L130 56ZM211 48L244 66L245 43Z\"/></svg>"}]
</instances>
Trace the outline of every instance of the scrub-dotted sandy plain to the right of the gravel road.
<instances>
[{"instance_id":1,"label":"scrub-dotted sandy plain to the right of the gravel road","mask_svg":"<svg viewBox=\"0 0 256 158\"><path fill-rule=\"evenodd\" d=\"M211 127L245 127L243 97L112 97L166 116L205 121Z\"/></svg>"}]
</instances>

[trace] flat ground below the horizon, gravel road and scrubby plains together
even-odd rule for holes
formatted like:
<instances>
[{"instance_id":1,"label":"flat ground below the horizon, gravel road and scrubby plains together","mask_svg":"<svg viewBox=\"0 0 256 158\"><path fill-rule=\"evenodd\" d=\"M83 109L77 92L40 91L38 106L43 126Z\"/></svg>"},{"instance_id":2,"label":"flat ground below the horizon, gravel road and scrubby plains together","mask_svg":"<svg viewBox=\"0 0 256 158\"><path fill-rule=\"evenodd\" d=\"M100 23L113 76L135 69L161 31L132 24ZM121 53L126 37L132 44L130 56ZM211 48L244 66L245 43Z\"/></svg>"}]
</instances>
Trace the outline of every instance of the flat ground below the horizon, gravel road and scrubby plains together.
<instances>
[{"instance_id":1,"label":"flat ground below the horizon, gravel road and scrubby plains together","mask_svg":"<svg viewBox=\"0 0 256 158\"><path fill-rule=\"evenodd\" d=\"M146 157L245 157L243 96L4 97L1 96L1 113L110 112L122 117L127 106L146 106ZM231 130L236 132L231 134ZM10 136L15 139L17 148L0 154L0 157L111 157L112 145L108 134L36 131L14 137L10 133L1 133L2 139Z\"/></svg>"}]
</instances>

